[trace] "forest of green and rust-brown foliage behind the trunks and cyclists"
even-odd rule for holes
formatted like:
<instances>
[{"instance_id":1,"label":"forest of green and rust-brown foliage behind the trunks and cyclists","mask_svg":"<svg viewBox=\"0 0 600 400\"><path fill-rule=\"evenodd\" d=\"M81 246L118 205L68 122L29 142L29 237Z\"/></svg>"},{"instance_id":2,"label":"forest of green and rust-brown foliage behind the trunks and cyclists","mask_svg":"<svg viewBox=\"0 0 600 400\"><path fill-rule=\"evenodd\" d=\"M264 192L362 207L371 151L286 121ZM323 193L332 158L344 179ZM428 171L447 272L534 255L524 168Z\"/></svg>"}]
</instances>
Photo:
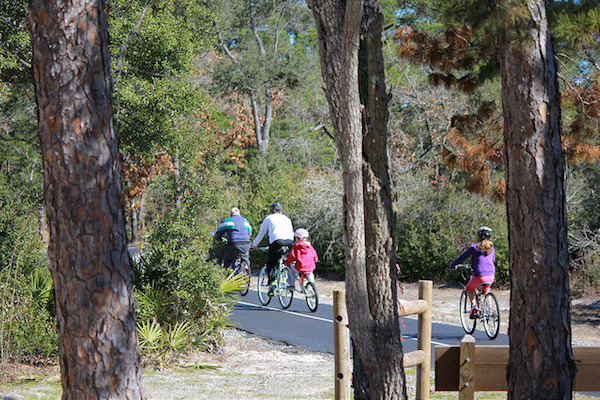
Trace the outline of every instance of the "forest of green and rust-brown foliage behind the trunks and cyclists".
<instances>
[{"instance_id":1,"label":"forest of green and rust-brown foliage behind the trunks and cyclists","mask_svg":"<svg viewBox=\"0 0 600 400\"><path fill-rule=\"evenodd\" d=\"M577 296L600 285L600 16L594 2L556 3ZM398 264L407 281L451 280L445 267L488 225L497 282L508 285L499 77L477 60L439 61L456 50L448 38L485 38L442 23L436 4L382 2ZM561 16L565 4L577 8L570 17ZM106 7L124 209L130 240L144 251L135 265L140 340L165 362L176 348L219 345L230 299L220 290L223 245L211 233L233 206L257 231L279 201L295 227L311 232L318 273L344 276L341 165L303 2L115 0ZM1 355L28 360L56 355L56 332L27 2L0 0L0 12ZM465 76L476 69L481 84L455 90L449 69ZM256 265L261 257L252 254Z\"/></svg>"}]
</instances>

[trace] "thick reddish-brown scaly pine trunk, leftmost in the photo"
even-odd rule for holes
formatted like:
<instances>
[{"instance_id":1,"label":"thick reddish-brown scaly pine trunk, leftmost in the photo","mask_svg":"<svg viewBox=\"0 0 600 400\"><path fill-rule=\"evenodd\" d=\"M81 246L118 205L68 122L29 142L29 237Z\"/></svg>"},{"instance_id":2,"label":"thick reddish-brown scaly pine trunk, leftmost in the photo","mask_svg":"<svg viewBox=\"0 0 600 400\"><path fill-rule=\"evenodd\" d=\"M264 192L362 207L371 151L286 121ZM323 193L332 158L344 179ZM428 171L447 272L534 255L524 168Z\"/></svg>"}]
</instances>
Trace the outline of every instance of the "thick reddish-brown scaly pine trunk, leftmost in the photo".
<instances>
[{"instance_id":1,"label":"thick reddish-brown scaly pine trunk, leftmost in the photo","mask_svg":"<svg viewBox=\"0 0 600 400\"><path fill-rule=\"evenodd\" d=\"M142 399L104 2L29 6L63 399Z\"/></svg>"}]
</instances>

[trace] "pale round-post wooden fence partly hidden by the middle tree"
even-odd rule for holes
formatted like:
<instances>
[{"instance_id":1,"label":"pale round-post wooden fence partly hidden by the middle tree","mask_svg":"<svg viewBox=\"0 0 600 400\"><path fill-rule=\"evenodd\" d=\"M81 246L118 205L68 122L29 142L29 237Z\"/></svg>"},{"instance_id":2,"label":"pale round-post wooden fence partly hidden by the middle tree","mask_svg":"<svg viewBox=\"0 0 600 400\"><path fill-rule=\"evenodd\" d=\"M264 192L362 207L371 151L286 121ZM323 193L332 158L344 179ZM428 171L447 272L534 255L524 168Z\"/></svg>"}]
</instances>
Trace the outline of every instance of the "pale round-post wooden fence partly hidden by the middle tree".
<instances>
[{"instance_id":1,"label":"pale round-post wooden fence partly hidden by the middle tree","mask_svg":"<svg viewBox=\"0 0 600 400\"><path fill-rule=\"evenodd\" d=\"M431 301L433 284L419 281L419 299L402 301L398 305L398 316L419 315L417 350L405 353L404 368L417 367L416 399L429 399L429 373L431 370ZM335 399L350 399L352 373L350 367L350 331L344 291L333 293L333 319L335 352Z\"/></svg>"}]
</instances>

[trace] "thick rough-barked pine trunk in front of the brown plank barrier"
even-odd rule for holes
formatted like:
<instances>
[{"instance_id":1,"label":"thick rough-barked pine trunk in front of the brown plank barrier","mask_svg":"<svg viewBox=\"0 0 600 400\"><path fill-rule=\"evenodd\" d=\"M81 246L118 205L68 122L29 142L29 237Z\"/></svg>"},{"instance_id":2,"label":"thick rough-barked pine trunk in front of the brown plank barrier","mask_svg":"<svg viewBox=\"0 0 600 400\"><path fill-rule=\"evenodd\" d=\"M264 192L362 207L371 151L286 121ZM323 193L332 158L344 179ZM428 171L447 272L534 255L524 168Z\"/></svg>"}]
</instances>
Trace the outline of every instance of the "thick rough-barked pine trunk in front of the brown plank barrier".
<instances>
[{"instance_id":1,"label":"thick rough-barked pine trunk in front of the brown plank barrier","mask_svg":"<svg viewBox=\"0 0 600 400\"><path fill-rule=\"evenodd\" d=\"M516 3L508 2L507 9L522 6L532 21L505 28L501 59L511 267L509 398L567 399L576 369L556 66L545 2Z\"/></svg>"}]
</instances>

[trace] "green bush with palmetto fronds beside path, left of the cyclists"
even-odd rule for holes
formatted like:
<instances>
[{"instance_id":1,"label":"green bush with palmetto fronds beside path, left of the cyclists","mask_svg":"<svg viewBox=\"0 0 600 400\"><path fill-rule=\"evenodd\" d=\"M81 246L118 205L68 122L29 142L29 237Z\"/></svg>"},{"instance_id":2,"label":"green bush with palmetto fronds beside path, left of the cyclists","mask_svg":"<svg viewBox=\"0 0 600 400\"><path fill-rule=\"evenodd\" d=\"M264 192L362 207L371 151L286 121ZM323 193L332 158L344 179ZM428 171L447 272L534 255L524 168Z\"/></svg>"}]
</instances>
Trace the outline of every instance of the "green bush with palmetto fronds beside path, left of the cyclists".
<instances>
[{"instance_id":1,"label":"green bush with palmetto fronds beside path, left of the cyclists","mask_svg":"<svg viewBox=\"0 0 600 400\"><path fill-rule=\"evenodd\" d=\"M204 245L192 239L193 229L173 227L167 219L155 226L151 250L134 264L140 324L148 328L149 321L154 321L168 331L185 323L190 340L179 349L218 346L219 329L229 326L233 302L222 290L226 275L219 265L206 261ZM168 229L169 234L160 229Z\"/></svg>"}]
</instances>

